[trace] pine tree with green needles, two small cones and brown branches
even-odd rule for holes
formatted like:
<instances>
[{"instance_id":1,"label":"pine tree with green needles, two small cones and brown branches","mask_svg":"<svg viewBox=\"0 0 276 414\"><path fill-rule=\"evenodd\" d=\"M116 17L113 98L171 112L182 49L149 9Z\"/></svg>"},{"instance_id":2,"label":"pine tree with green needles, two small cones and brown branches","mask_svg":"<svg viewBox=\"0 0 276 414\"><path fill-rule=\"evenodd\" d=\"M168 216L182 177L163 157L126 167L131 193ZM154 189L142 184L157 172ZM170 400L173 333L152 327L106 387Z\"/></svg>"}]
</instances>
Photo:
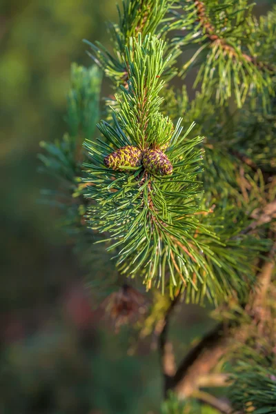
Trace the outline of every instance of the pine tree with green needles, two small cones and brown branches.
<instances>
[{"instance_id":1,"label":"pine tree with green needles, two small cones and brown branches","mask_svg":"<svg viewBox=\"0 0 276 414\"><path fill-rule=\"evenodd\" d=\"M101 71L72 66L68 133L39 155L59 190L44 193L116 328L157 335L162 412L276 413L276 8L257 19L246 0L124 0L118 12L112 52L86 41L113 95L99 117ZM176 366L170 317L208 301L217 324Z\"/></svg>"}]
</instances>

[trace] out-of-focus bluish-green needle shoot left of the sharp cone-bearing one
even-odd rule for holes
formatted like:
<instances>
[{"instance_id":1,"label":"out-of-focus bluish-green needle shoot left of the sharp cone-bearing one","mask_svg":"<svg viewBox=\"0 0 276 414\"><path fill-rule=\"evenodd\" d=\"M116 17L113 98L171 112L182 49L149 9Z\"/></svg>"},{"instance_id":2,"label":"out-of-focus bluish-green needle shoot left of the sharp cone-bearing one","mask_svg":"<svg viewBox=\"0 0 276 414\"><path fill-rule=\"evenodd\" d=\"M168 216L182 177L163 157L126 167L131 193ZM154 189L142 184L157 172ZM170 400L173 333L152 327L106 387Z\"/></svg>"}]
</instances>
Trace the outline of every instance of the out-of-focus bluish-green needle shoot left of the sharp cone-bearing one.
<instances>
[{"instance_id":1,"label":"out-of-focus bluish-green needle shoot left of the sharp cone-bearing one","mask_svg":"<svg viewBox=\"0 0 276 414\"><path fill-rule=\"evenodd\" d=\"M83 162L83 140L93 137L99 119L100 89L101 72L97 66L86 69L72 64L66 115L68 132L54 142L42 141L44 152L39 154L43 163L40 171L52 175L59 183L58 190L42 190L41 201L61 210L60 224L74 237L76 250L80 252L83 249L84 262L87 262L87 250L90 251L95 237L81 223L86 205L79 175Z\"/></svg>"}]
</instances>

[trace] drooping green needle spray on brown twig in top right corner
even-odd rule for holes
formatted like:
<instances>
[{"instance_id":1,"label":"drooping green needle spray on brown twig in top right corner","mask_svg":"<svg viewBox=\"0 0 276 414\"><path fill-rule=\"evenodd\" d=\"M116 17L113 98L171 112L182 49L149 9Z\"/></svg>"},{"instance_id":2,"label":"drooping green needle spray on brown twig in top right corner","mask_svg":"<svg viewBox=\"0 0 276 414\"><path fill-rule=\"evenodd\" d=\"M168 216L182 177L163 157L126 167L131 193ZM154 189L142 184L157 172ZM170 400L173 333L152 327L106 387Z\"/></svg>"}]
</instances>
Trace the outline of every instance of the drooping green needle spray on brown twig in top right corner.
<instances>
[{"instance_id":1,"label":"drooping green needle spray on brown twig in top right corner","mask_svg":"<svg viewBox=\"0 0 276 414\"><path fill-rule=\"evenodd\" d=\"M182 47L197 46L193 57L184 64L182 75L192 66L200 65L194 87L200 84L204 93L215 91L219 105L234 93L241 108L248 95L256 98L262 93L263 105L268 106L275 73L271 55L275 12L257 23L252 17L253 4L248 5L247 0L181 3L183 14L178 16L178 27L184 27L186 32L175 42ZM266 39L264 50L263 39Z\"/></svg>"}]
</instances>

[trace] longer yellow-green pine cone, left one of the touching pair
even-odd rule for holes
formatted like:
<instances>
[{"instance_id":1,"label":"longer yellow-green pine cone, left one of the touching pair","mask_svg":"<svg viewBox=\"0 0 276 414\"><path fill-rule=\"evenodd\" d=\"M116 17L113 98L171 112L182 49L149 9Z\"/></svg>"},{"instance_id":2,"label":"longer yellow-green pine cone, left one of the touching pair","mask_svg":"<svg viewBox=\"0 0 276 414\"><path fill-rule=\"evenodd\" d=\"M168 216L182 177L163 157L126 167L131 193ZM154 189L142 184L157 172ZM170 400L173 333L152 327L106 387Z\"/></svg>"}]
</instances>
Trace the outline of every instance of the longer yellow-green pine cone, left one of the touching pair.
<instances>
[{"instance_id":1,"label":"longer yellow-green pine cone, left one of the touching pair","mask_svg":"<svg viewBox=\"0 0 276 414\"><path fill-rule=\"evenodd\" d=\"M112 170L126 171L127 168L120 168L120 166L141 166L142 152L135 146L127 145L107 155L105 159L103 159L103 163L106 167L112 168Z\"/></svg>"}]
</instances>

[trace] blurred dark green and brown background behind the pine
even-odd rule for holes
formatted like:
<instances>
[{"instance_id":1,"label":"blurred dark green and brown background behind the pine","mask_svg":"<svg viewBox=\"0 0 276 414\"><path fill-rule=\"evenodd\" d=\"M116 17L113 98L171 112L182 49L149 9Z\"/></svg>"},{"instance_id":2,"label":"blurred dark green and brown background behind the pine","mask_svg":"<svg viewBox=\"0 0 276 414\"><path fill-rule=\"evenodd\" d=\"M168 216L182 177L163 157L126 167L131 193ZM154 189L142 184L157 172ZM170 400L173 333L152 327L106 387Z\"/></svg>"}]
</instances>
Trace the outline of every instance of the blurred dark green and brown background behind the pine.
<instances>
[{"instance_id":1,"label":"blurred dark green and brown background behind the pine","mask_svg":"<svg viewBox=\"0 0 276 414\"><path fill-rule=\"evenodd\" d=\"M144 344L130 355L128 328L115 335L102 323L57 212L38 202L49 185L39 141L66 129L70 63L90 66L81 39L108 45L105 22L116 19L114 0L0 3L1 413L159 413L157 353ZM175 321L180 351L203 313L190 306Z\"/></svg>"}]
</instances>

